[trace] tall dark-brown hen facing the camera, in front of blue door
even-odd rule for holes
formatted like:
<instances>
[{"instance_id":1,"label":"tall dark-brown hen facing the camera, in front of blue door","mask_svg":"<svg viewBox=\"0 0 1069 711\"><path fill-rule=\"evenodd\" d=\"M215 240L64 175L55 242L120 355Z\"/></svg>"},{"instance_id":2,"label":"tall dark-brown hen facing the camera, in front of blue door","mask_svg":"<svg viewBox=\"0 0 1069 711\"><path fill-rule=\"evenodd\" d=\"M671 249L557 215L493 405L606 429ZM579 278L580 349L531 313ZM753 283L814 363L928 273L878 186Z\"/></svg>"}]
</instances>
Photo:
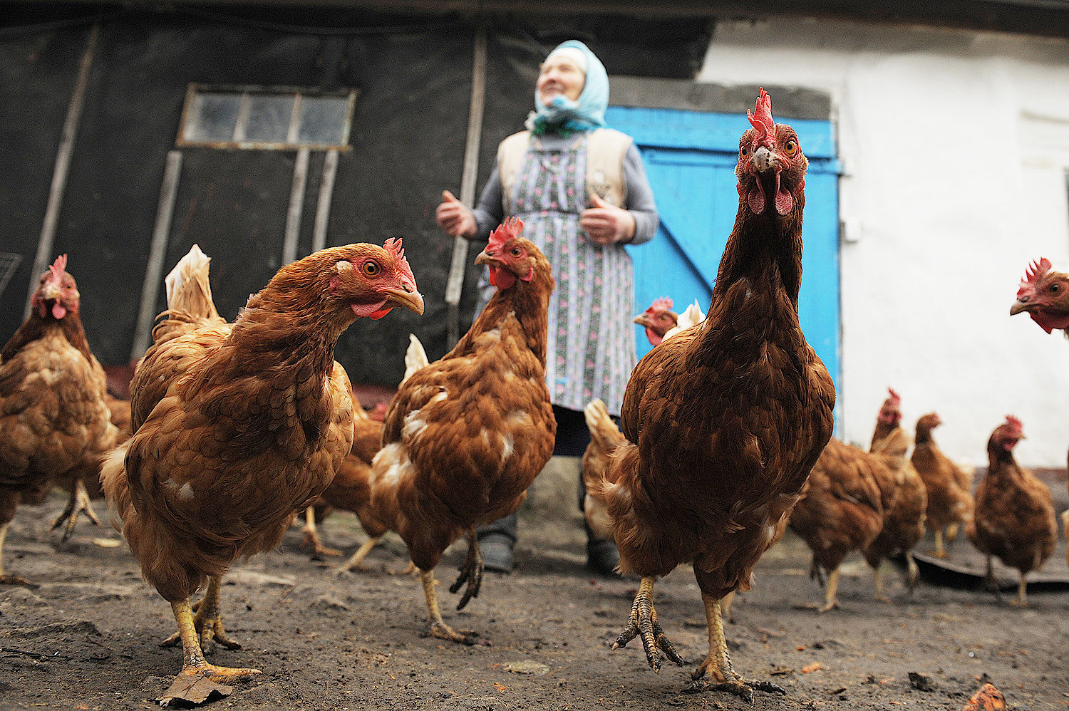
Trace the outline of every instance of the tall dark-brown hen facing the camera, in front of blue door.
<instances>
[{"instance_id":1,"label":"tall dark-brown hen facing the camera, in front of blue door","mask_svg":"<svg viewBox=\"0 0 1069 711\"><path fill-rule=\"evenodd\" d=\"M647 354L623 399L626 437L592 494L605 500L620 569L641 576L626 629L657 670L659 650L682 664L657 622L653 585L694 563L709 655L692 687L753 698L732 668L721 599L747 590L783 535L814 462L832 435L835 387L799 327L802 212L808 166L797 135L772 119L761 90L739 141L739 212L709 315ZM718 683L716 683L718 682Z\"/></svg>"}]
</instances>

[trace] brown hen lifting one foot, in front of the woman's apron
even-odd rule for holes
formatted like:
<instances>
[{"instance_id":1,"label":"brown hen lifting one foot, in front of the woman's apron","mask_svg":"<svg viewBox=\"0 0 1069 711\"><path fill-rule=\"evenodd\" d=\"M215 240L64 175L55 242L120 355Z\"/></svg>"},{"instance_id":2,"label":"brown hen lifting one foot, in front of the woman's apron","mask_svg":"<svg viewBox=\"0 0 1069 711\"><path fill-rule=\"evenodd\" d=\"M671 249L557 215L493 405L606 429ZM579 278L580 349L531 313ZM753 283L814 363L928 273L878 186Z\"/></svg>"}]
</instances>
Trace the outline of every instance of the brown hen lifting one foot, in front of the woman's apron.
<instances>
[{"instance_id":1,"label":"brown hen lifting one foot, in front of the woman's apron","mask_svg":"<svg viewBox=\"0 0 1069 711\"><path fill-rule=\"evenodd\" d=\"M482 555L475 528L515 511L549 460L557 430L545 386L549 262L520 236L510 218L493 232L476 264L490 267L497 292L440 360L398 389L383 423L383 449L372 464L375 538L397 531L423 581L432 636L472 644L441 619L434 567L460 536L467 557L451 592L460 609L478 594Z\"/></svg>"}]
</instances>

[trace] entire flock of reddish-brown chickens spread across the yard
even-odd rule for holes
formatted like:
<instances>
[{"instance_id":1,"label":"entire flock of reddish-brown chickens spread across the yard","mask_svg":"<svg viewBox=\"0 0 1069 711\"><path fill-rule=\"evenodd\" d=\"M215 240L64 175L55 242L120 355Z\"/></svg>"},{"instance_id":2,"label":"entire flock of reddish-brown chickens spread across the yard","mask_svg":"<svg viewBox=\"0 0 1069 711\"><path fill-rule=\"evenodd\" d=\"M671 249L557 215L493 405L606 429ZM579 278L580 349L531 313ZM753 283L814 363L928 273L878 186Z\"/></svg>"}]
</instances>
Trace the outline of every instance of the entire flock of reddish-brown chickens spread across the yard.
<instances>
[{"instance_id":1,"label":"entire flock of reddish-brown chickens spread across the yard","mask_svg":"<svg viewBox=\"0 0 1069 711\"><path fill-rule=\"evenodd\" d=\"M640 638L650 666L683 660L654 607L657 577L692 563L707 612L709 654L691 690L753 699L781 692L739 675L723 606L749 589L761 555L790 525L828 573L820 607L836 605L838 569L862 551L877 573L909 554L925 520L959 525L985 553L1024 574L1056 536L1050 491L1012 455L1013 418L988 445L991 467L974 499L971 475L935 446L939 417L917 423L916 447L899 427L898 397L881 409L869 452L832 438L835 389L799 327L802 216L808 161L794 130L772 117L762 90L739 143L739 211L708 315L671 313L660 299L639 321L655 347L632 373L620 428L602 403L587 408L587 515L611 536L620 570L641 578L614 648ZM497 292L470 330L428 362L413 339L405 378L382 422L356 402L334 360L341 333L423 300L400 241L315 252L282 267L233 323L216 312L208 259L195 246L167 278L168 309L138 364L128 402L110 399L78 318L79 294L61 257L41 278L32 312L0 352L0 553L19 504L60 484L69 504L56 525L68 536L90 495L103 494L144 578L167 600L182 670L162 699L200 701L212 689L258 674L205 660L213 643L237 648L222 624L222 576L238 558L276 546L308 511L353 511L368 542L404 540L427 600L429 634L471 644L441 616L434 568L454 540L468 551L450 590L458 608L479 594L477 526L515 511L548 461L556 431L544 383L549 264L507 220L476 264ZM1043 328L1069 327L1069 277L1042 261L1022 282L1013 313ZM675 327L675 328L672 328ZM671 330L669 330L671 329ZM95 520L95 519L94 519ZM912 562L912 561L911 561ZM915 567L911 567L915 582ZM20 582L0 567L0 582ZM203 598L190 598L205 586ZM723 601L723 604L722 604Z\"/></svg>"}]
</instances>

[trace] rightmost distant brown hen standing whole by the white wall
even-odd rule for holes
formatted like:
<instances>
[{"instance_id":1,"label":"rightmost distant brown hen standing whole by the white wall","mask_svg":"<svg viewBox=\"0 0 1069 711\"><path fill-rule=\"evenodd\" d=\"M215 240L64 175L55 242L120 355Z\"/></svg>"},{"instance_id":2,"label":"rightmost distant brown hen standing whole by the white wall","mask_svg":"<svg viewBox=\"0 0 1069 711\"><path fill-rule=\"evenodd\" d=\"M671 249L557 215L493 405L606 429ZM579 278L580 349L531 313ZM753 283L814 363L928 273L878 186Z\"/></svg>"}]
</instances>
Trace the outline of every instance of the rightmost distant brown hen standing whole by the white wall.
<instances>
[{"instance_id":1,"label":"rightmost distant brown hen standing whole by the white wall","mask_svg":"<svg viewBox=\"0 0 1069 711\"><path fill-rule=\"evenodd\" d=\"M1051 490L1013 459L1024 439L1021 420L1008 416L988 439L988 474L976 489L976 510L965 536L988 557L987 579L994 583L991 556L1021 572L1018 599L1027 605L1025 576L1039 570L1054 551L1058 527Z\"/></svg>"}]
</instances>

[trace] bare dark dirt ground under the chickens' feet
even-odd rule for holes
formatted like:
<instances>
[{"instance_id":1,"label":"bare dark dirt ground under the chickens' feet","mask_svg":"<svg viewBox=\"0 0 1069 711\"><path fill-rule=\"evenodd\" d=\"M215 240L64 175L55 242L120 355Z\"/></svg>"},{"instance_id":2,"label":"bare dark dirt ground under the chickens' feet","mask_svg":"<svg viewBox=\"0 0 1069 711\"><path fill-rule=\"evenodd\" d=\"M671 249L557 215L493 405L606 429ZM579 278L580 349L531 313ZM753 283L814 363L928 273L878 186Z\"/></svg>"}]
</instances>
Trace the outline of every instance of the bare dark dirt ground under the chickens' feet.
<instances>
[{"instance_id":1,"label":"bare dark dirt ground under the chickens' feet","mask_svg":"<svg viewBox=\"0 0 1069 711\"><path fill-rule=\"evenodd\" d=\"M335 575L338 559L312 561L291 530L279 551L235 567L222 590L223 621L244 650L214 651L229 666L263 675L207 708L233 709L746 709L723 693L681 693L708 650L697 586L680 568L655 588L665 632L688 661L646 665L641 645L609 651L626 622L634 579L591 577L574 484L567 467L544 473L522 516L518 569L487 573L462 613L446 589L464 544L437 569L446 621L477 630L474 647L421 636L416 577L400 539L369 557L370 572ZM571 481L574 481L571 480ZM1064 486L1064 484L1063 484ZM0 588L0 709L150 709L181 665L158 643L174 631L169 606L140 579L110 529L79 523L67 544L48 527L62 509L21 509L7 536L9 572L36 587ZM103 503L97 503L103 513ZM348 514L322 526L325 542L351 552L363 540ZM925 550L929 544L921 543ZM954 546L967 546L959 540ZM1054 558L1065 565L1065 540ZM872 601L859 558L845 567L841 609L802 609L821 590L804 544L788 536L761 560L755 588L735 604L728 637L735 667L780 684L756 707L961 709L990 680L1014 711L1069 707L1069 592L1029 590L1032 606L1006 597L921 582L912 600L897 567L885 569L894 602ZM1052 560L1053 562L1053 560ZM1010 593L1011 594L1011 593ZM911 682L910 673L924 675Z\"/></svg>"}]
</instances>

